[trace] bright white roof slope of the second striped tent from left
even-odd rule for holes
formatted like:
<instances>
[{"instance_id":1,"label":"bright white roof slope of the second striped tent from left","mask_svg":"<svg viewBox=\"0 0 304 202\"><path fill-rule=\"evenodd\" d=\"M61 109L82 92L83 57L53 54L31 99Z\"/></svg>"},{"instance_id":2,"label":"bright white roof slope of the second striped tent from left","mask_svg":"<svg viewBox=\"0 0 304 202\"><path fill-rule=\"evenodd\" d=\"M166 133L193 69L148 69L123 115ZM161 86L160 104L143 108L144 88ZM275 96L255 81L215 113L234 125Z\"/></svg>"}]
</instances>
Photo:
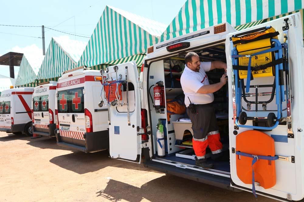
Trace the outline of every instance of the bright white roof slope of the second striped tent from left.
<instances>
[{"instance_id":1,"label":"bright white roof slope of the second striped tent from left","mask_svg":"<svg viewBox=\"0 0 304 202\"><path fill-rule=\"evenodd\" d=\"M53 37L55 41L78 62L88 42L71 39L69 36Z\"/></svg>"}]
</instances>

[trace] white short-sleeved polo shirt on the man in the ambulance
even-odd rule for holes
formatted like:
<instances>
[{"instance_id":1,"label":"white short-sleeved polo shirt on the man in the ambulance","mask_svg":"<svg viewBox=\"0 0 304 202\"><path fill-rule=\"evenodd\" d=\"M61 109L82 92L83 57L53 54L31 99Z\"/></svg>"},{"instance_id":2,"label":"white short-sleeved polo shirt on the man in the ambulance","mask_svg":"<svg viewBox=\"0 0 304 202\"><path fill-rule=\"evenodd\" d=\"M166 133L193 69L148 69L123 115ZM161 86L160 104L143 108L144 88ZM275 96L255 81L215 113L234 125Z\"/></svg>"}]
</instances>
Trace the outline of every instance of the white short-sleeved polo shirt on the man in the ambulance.
<instances>
[{"instance_id":1,"label":"white short-sleeved polo shirt on the man in the ambulance","mask_svg":"<svg viewBox=\"0 0 304 202\"><path fill-rule=\"evenodd\" d=\"M209 85L206 71L210 71L211 62L201 62L199 72L192 71L185 65L184 72L181 75L181 88L185 94L185 104L188 107L190 101L193 104L208 104L213 102L213 93L197 93L203 85ZM190 101L189 101L189 99Z\"/></svg>"}]
</instances>

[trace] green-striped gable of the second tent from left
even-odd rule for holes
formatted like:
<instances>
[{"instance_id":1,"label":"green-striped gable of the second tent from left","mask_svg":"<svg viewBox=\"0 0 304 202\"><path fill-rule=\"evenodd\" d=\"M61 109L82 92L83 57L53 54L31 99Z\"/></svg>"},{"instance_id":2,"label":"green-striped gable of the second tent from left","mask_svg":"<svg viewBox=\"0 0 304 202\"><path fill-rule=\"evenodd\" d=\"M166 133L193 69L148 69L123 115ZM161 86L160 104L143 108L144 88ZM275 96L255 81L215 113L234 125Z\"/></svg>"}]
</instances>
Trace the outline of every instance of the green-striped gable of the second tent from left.
<instances>
[{"instance_id":1,"label":"green-striped gable of the second tent from left","mask_svg":"<svg viewBox=\"0 0 304 202\"><path fill-rule=\"evenodd\" d=\"M58 81L64 71L77 67L74 59L52 37L36 79L39 83Z\"/></svg>"}]
</instances>

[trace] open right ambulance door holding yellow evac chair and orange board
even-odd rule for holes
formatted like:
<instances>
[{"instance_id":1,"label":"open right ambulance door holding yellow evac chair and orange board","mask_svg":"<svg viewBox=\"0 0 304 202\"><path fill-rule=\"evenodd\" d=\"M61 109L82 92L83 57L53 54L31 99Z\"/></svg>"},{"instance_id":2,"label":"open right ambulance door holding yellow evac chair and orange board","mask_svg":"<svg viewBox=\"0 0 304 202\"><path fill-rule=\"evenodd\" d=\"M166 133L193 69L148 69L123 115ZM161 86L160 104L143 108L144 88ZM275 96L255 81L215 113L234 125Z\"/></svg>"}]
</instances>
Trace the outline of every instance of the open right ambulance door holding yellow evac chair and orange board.
<instances>
[{"instance_id":1,"label":"open right ambulance door holding yellow evac chair and orange board","mask_svg":"<svg viewBox=\"0 0 304 202\"><path fill-rule=\"evenodd\" d=\"M226 39L231 186L282 201L304 197L302 29L298 12Z\"/></svg>"}]
</instances>

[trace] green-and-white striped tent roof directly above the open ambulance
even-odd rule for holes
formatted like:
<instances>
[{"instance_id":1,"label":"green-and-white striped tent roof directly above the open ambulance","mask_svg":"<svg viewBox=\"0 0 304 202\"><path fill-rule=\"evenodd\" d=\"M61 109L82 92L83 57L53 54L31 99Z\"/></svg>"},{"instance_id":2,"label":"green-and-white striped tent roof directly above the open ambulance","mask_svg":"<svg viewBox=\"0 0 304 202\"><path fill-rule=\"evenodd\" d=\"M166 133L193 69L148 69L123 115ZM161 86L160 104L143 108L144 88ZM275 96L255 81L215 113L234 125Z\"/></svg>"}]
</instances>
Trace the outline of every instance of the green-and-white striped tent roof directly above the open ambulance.
<instances>
[{"instance_id":1,"label":"green-and-white striped tent roof directly above the open ambulance","mask_svg":"<svg viewBox=\"0 0 304 202\"><path fill-rule=\"evenodd\" d=\"M187 0L161 35L160 41L222 22L240 30L302 8L304 0Z\"/></svg>"}]
</instances>

